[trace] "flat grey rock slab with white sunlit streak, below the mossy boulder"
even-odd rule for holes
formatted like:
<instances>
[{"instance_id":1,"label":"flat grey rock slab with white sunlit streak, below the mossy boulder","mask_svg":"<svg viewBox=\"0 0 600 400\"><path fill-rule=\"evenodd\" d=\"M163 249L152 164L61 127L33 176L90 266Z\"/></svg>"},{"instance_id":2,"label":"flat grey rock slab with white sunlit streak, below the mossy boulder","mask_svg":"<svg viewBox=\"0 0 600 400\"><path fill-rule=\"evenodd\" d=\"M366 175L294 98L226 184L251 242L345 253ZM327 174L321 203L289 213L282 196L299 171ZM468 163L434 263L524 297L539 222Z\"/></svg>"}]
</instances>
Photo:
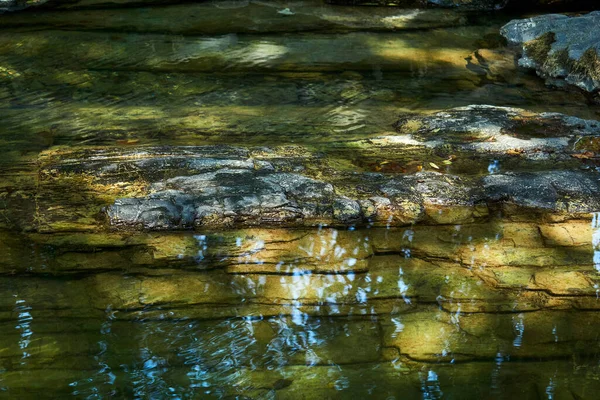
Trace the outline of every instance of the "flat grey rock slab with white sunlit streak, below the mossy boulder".
<instances>
[{"instance_id":1,"label":"flat grey rock slab with white sunlit streak, below the mossy boulder","mask_svg":"<svg viewBox=\"0 0 600 400\"><path fill-rule=\"evenodd\" d=\"M374 143L384 148L411 143L473 156L493 154L538 161L567 160L595 151L593 138L600 135L600 121L489 105L408 114L395 127L399 135L380 137Z\"/></svg>"}]
</instances>

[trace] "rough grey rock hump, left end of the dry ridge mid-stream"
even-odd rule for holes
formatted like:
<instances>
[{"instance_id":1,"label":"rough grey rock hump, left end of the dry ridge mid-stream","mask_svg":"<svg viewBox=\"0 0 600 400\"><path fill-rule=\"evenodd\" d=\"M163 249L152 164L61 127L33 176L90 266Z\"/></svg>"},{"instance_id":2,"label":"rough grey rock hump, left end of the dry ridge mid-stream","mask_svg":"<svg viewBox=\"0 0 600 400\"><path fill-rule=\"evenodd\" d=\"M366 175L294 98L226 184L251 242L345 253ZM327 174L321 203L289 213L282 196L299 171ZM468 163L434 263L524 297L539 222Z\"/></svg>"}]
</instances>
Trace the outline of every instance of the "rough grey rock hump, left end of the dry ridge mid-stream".
<instances>
[{"instance_id":1,"label":"rough grey rock hump, left end of the dry ridge mid-stream","mask_svg":"<svg viewBox=\"0 0 600 400\"><path fill-rule=\"evenodd\" d=\"M330 217L333 187L298 174L256 174L248 169L177 177L151 186L142 199L119 199L108 208L113 226L140 225L149 229L194 225L285 224L298 219ZM339 199L341 200L341 199ZM342 209L342 220L360 216L356 202Z\"/></svg>"}]
</instances>

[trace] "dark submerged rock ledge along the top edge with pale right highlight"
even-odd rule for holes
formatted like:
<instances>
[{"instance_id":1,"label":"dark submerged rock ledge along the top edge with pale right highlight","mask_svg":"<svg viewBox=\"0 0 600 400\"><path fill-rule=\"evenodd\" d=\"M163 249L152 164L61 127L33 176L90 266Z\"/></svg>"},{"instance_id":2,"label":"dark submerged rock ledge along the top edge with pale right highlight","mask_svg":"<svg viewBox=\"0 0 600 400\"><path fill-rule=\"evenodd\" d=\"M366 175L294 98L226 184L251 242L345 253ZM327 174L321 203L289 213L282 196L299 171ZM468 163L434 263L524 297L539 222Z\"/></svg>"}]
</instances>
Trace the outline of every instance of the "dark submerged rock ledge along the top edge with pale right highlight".
<instances>
[{"instance_id":1,"label":"dark submerged rock ledge along the top edge with pale right highlight","mask_svg":"<svg viewBox=\"0 0 600 400\"><path fill-rule=\"evenodd\" d=\"M226 7L223 1L184 2L167 7L150 7L152 4L147 1L145 4L137 4L138 7L132 7L132 4L123 0L118 3L104 1L97 5L86 3L89 1L61 3L51 10L44 10L44 13L7 13L0 16L0 26L218 35L427 29L455 27L468 22L464 13L456 10L366 10L359 7L327 6L322 0L290 0L285 2L286 8L283 8L282 2L258 1L229 2L236 7ZM119 4L122 7L118 8Z\"/></svg>"}]
</instances>

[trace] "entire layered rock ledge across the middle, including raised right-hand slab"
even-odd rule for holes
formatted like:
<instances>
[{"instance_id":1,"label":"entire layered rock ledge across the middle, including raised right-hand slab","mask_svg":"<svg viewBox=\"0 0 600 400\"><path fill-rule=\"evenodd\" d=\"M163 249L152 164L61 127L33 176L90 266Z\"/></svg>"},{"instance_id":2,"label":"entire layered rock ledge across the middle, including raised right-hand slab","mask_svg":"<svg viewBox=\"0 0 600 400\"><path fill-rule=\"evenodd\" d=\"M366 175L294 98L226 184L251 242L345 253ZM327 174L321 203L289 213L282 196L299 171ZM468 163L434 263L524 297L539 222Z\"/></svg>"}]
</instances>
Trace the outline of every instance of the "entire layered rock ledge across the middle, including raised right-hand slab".
<instances>
[{"instance_id":1,"label":"entire layered rock ledge across the middle, including raised right-hand slab","mask_svg":"<svg viewBox=\"0 0 600 400\"><path fill-rule=\"evenodd\" d=\"M459 224L496 212L532 219L600 210L596 121L469 106L403 115L396 128L342 142L332 154L301 146L58 147L38 161L33 228Z\"/></svg>"}]
</instances>

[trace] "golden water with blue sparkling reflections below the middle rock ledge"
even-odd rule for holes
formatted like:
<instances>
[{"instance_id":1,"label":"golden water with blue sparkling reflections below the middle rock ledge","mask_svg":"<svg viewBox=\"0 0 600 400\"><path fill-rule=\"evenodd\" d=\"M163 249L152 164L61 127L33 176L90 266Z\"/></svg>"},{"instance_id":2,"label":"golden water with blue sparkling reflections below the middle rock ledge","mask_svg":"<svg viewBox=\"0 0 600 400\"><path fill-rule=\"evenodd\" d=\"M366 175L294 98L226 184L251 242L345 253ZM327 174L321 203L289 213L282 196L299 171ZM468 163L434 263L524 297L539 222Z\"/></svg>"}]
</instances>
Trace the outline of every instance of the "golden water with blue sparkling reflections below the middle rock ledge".
<instances>
[{"instance_id":1,"label":"golden water with blue sparkling reflections below the middle rock ledge","mask_svg":"<svg viewBox=\"0 0 600 400\"><path fill-rule=\"evenodd\" d=\"M114 239L90 253L44 236L38 251L56 264L0 278L15 293L2 303L2 387L13 398L591 399L596 221L138 234L135 251L153 261L112 269L102 258L115 252L147 257ZM555 245L557 230L573 242ZM61 272L63 252L87 255L86 270Z\"/></svg>"}]
</instances>

